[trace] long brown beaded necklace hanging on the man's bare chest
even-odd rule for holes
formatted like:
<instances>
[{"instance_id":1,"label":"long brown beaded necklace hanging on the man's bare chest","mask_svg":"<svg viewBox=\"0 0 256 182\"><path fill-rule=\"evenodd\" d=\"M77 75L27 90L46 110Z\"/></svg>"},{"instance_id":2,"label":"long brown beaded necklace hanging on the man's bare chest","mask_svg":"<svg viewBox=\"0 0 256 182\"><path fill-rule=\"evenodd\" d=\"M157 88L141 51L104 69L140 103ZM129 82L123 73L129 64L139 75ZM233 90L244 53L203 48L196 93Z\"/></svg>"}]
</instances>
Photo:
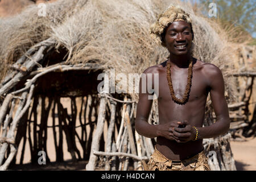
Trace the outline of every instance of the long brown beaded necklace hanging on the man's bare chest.
<instances>
[{"instance_id":1,"label":"long brown beaded necklace hanging on the man's bare chest","mask_svg":"<svg viewBox=\"0 0 256 182\"><path fill-rule=\"evenodd\" d=\"M183 104L187 103L187 101L188 101L188 96L189 96L189 92L190 92L191 84L192 84L192 75L193 75L192 69L193 69L193 61L191 60L189 63L189 66L188 66L188 82L187 82L187 85L185 88L185 93L184 93L184 96L181 99L179 99L175 96L174 88L172 87L171 64L170 64L169 60L167 61L166 73L167 73L168 85L169 85L170 93L172 96L172 100L174 102L176 102L177 104L183 105Z\"/></svg>"}]
</instances>

